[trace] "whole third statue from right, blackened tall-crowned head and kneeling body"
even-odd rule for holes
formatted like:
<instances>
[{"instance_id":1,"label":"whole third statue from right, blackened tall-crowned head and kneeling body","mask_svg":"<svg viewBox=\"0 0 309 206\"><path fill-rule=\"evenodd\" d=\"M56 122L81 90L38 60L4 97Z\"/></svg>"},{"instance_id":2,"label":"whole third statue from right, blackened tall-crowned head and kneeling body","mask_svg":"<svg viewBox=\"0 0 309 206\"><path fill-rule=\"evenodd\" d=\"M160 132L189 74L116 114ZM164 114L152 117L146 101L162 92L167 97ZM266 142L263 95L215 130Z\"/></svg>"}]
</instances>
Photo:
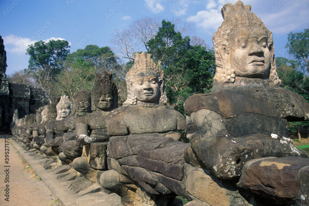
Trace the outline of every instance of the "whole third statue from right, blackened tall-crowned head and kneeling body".
<instances>
[{"instance_id":1,"label":"whole third statue from right, blackened tall-crowned head and kneeling body","mask_svg":"<svg viewBox=\"0 0 309 206\"><path fill-rule=\"evenodd\" d=\"M74 159L75 170L95 182L97 170L106 170L106 149L109 135L106 118L111 110L118 107L118 90L112 82L112 74L96 73L95 86L91 90L93 112L76 120L76 142L83 146L83 156ZM76 143L75 142L75 143Z\"/></svg>"}]
</instances>

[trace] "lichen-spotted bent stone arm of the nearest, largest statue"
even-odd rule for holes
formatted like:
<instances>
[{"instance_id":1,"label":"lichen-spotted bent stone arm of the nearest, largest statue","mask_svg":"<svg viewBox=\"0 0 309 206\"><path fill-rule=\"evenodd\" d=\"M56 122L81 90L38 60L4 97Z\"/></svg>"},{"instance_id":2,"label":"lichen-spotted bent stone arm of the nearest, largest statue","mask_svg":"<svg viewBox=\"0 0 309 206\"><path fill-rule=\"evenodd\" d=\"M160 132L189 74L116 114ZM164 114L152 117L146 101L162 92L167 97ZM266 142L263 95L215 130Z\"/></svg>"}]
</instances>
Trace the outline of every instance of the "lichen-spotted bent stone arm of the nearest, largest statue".
<instances>
[{"instance_id":1,"label":"lichen-spotted bent stone arm of the nearest, largest statue","mask_svg":"<svg viewBox=\"0 0 309 206\"><path fill-rule=\"evenodd\" d=\"M201 166L222 179L240 175L239 154L244 149L227 132L223 117L201 109L186 119L187 137Z\"/></svg>"}]
</instances>

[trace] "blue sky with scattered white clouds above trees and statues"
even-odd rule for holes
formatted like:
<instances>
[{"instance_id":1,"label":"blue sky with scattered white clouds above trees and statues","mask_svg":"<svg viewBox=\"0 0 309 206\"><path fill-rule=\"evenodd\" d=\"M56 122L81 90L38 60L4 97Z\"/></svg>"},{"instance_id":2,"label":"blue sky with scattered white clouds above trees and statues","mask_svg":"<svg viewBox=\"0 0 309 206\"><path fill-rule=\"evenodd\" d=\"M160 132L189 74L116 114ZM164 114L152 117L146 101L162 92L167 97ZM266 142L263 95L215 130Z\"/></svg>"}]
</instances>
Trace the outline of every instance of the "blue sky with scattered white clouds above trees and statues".
<instances>
[{"instance_id":1,"label":"blue sky with scattered white clouds above trees and statues","mask_svg":"<svg viewBox=\"0 0 309 206\"><path fill-rule=\"evenodd\" d=\"M70 52L88 44L99 47L110 43L115 30L128 29L144 16L190 22L194 32L213 47L212 36L223 19L221 8L236 0L1 0L0 35L4 40L6 74L28 67L28 44L64 39ZM289 56L285 49L288 33L309 27L308 0L243 0L273 32L276 57ZM114 11L112 11L114 10ZM126 60L125 60L126 61Z\"/></svg>"}]
</instances>

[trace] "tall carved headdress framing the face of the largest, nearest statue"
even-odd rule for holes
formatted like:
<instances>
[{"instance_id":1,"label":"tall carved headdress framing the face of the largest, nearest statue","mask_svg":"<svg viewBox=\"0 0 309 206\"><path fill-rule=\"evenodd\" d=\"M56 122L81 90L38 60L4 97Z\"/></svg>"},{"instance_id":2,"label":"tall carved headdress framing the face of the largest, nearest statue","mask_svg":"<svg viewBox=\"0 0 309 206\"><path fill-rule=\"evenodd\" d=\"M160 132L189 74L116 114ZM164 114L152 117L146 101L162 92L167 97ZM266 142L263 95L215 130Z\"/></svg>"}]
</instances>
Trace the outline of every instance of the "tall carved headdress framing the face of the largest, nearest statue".
<instances>
[{"instance_id":1,"label":"tall carved headdress framing the face of the largest, nearest statue","mask_svg":"<svg viewBox=\"0 0 309 206\"><path fill-rule=\"evenodd\" d=\"M273 34L265 27L261 19L251 12L251 6L245 6L241 1L236 2L234 5L227 3L222 7L221 13L224 21L212 39L217 65L214 80L218 82L235 81L235 70L233 68L223 68L222 59L218 51L220 47L222 45L226 45L227 48L231 46L230 37L236 29L240 27L259 27L268 35L268 48L271 55L271 70L268 79L269 85L273 87L280 86L281 80L279 80L277 76L274 59Z\"/></svg>"}]
</instances>

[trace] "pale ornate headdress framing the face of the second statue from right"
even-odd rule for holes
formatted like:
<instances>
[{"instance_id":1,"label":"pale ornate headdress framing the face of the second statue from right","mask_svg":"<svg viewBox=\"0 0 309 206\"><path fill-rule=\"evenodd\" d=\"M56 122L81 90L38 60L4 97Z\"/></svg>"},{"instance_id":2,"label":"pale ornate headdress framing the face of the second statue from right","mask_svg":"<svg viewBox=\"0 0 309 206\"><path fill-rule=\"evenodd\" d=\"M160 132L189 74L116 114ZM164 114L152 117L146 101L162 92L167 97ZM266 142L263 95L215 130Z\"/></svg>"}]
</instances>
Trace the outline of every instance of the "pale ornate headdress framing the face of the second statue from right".
<instances>
[{"instance_id":1,"label":"pale ornate headdress framing the face of the second statue from right","mask_svg":"<svg viewBox=\"0 0 309 206\"><path fill-rule=\"evenodd\" d=\"M134 64L129 70L129 72L125 75L125 79L127 82L128 96L127 100L124 102L123 105L136 104L137 100L136 97L134 97L134 95L131 94L130 84L131 82L134 82L135 75L143 71L144 72L153 71L155 74L158 75L159 81L163 80L164 84L164 72L162 69L160 69L158 65L155 64L155 62L152 59L152 54L147 54L146 52L142 52L141 54L135 53ZM166 97L165 85L163 85L163 92L161 93L159 103L165 104L166 101L167 97Z\"/></svg>"}]
</instances>

